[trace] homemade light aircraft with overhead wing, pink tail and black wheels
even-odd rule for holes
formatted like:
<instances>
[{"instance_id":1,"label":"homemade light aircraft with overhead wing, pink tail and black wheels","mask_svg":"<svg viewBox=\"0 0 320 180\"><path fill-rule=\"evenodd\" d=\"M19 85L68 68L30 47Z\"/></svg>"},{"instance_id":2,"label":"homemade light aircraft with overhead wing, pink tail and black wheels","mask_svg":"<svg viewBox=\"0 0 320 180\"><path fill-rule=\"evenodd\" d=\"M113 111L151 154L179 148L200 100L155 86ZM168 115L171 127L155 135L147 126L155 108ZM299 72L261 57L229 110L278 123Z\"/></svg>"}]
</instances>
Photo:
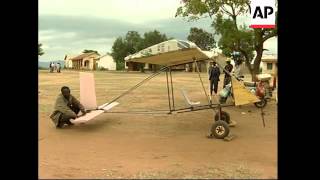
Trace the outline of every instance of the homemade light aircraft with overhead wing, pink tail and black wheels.
<instances>
[{"instance_id":1,"label":"homemade light aircraft with overhead wing, pink tail and black wheels","mask_svg":"<svg viewBox=\"0 0 320 180\"><path fill-rule=\"evenodd\" d=\"M85 108L91 109L90 113L87 113L85 116L77 118L73 120L74 123L77 122L86 122L94 117L108 112L112 107L118 105L116 102L119 98L133 91L134 89L141 86L143 83L149 81L155 76L159 75L162 72L166 73L166 84L167 84L167 94L168 94L168 107L169 110L166 112L168 114L172 113L184 113L184 112L193 112L199 110L212 109L216 111L218 110L214 116L214 123L211 127L211 133L214 137L218 139L225 138L228 136L230 129L228 123L230 122L230 115L222 111L223 107L228 106L239 106L245 104L253 104L255 102L259 102L260 99L248 91L245 86L238 81L232 74L231 79L231 92L234 101L232 103L212 103L211 96L208 96L205 87L203 85L203 81L199 72L199 67L197 62L204 60L213 60L212 53L209 51L202 51L198 48L194 43L189 41L181 41L181 40L169 40L156 45L153 45L149 48L141 50L133 55L129 55L125 58L126 62L137 62L137 63L148 63L148 64L156 64L162 65L162 68L142 80L135 86L131 87L124 93L120 94L118 97L114 98L108 103L105 103L99 107L96 106L95 100L95 90L94 90L94 79L93 74L88 73L80 73L80 100L81 103L85 106ZM189 105L185 108L176 109L175 108L175 98L173 93L173 83L172 83L172 73L171 70L173 67L187 64L187 63L195 63L197 73L199 75L199 80L202 84L202 88L205 96L208 98L208 103L201 105L200 102L192 102L185 91L182 91L182 95L186 100L186 103ZM217 63L218 64L218 63ZM219 64L218 64L219 65ZM220 65L219 65L220 66ZM222 68L224 69L224 68ZM225 72L228 73L228 72ZM169 78L170 77L170 78ZM91 100L89 100L91 99Z\"/></svg>"}]
</instances>

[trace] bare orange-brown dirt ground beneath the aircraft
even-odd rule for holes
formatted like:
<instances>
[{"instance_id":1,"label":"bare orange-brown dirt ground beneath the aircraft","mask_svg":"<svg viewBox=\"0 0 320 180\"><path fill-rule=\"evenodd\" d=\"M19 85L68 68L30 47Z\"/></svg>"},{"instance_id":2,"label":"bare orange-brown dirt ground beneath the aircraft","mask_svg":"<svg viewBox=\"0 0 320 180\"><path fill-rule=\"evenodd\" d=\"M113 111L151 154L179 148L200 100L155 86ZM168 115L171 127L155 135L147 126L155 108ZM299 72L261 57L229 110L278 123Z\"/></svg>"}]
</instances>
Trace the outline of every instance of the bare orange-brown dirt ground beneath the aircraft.
<instances>
[{"instance_id":1,"label":"bare orange-brown dirt ground beneath the aircraft","mask_svg":"<svg viewBox=\"0 0 320 180\"><path fill-rule=\"evenodd\" d=\"M110 101L150 74L94 72L98 104ZM203 81L208 89L207 75ZM263 127L254 105L224 108L238 124L232 141L208 139L214 111L181 114L116 113L167 110L166 76L152 79L94 120L56 129L49 119L61 86L79 98L79 73L39 71L39 178L277 178L277 105L268 102ZM180 92L206 104L196 73L173 73ZM223 82L221 77L220 83ZM220 88L221 89L221 85Z\"/></svg>"}]
</instances>

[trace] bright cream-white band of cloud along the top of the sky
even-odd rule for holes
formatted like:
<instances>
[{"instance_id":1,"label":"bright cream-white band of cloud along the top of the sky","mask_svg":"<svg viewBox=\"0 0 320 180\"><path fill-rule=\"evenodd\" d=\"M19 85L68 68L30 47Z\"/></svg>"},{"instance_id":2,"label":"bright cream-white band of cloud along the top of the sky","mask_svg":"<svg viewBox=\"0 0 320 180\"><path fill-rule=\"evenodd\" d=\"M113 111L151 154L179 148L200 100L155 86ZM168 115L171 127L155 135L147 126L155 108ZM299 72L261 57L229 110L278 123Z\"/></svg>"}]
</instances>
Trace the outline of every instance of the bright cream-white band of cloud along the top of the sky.
<instances>
[{"instance_id":1,"label":"bright cream-white band of cloud along the top of the sky","mask_svg":"<svg viewBox=\"0 0 320 180\"><path fill-rule=\"evenodd\" d=\"M142 23L175 15L180 0L39 0L39 14L95 16Z\"/></svg>"}]
</instances>

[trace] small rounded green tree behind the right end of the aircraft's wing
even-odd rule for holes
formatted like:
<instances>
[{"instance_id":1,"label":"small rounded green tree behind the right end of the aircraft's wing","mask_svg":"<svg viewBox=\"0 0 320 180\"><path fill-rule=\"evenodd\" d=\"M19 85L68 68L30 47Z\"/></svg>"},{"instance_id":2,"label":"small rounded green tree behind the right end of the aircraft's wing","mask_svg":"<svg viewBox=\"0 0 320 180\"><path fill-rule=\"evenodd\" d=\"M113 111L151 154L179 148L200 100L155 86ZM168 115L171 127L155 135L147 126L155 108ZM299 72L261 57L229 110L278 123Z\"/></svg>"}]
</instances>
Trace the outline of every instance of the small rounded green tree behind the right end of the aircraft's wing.
<instances>
[{"instance_id":1,"label":"small rounded green tree behind the right end of the aircraft's wing","mask_svg":"<svg viewBox=\"0 0 320 180\"><path fill-rule=\"evenodd\" d=\"M200 49L206 51L214 48L216 43L213 34L196 27L190 28L188 40L194 42Z\"/></svg>"}]
</instances>

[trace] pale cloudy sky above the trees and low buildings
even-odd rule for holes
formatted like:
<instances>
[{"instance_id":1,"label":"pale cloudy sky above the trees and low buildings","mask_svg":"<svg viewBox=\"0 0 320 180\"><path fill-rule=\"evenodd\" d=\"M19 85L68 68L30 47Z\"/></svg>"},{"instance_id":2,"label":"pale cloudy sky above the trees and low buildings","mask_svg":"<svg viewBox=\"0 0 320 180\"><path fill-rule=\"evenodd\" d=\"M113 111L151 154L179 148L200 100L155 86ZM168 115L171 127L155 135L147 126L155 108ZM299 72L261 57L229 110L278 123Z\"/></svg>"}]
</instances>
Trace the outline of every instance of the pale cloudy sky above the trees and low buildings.
<instances>
[{"instance_id":1,"label":"pale cloudy sky above the trees and low buildings","mask_svg":"<svg viewBox=\"0 0 320 180\"><path fill-rule=\"evenodd\" d=\"M158 30L167 37L186 40L191 27L213 33L210 18L188 22L175 13L181 0L39 0L39 43L45 54L40 61L63 60L84 49L111 52L117 37L128 31ZM248 18L240 21L247 22ZM265 42L277 54L277 38Z\"/></svg>"}]
</instances>

